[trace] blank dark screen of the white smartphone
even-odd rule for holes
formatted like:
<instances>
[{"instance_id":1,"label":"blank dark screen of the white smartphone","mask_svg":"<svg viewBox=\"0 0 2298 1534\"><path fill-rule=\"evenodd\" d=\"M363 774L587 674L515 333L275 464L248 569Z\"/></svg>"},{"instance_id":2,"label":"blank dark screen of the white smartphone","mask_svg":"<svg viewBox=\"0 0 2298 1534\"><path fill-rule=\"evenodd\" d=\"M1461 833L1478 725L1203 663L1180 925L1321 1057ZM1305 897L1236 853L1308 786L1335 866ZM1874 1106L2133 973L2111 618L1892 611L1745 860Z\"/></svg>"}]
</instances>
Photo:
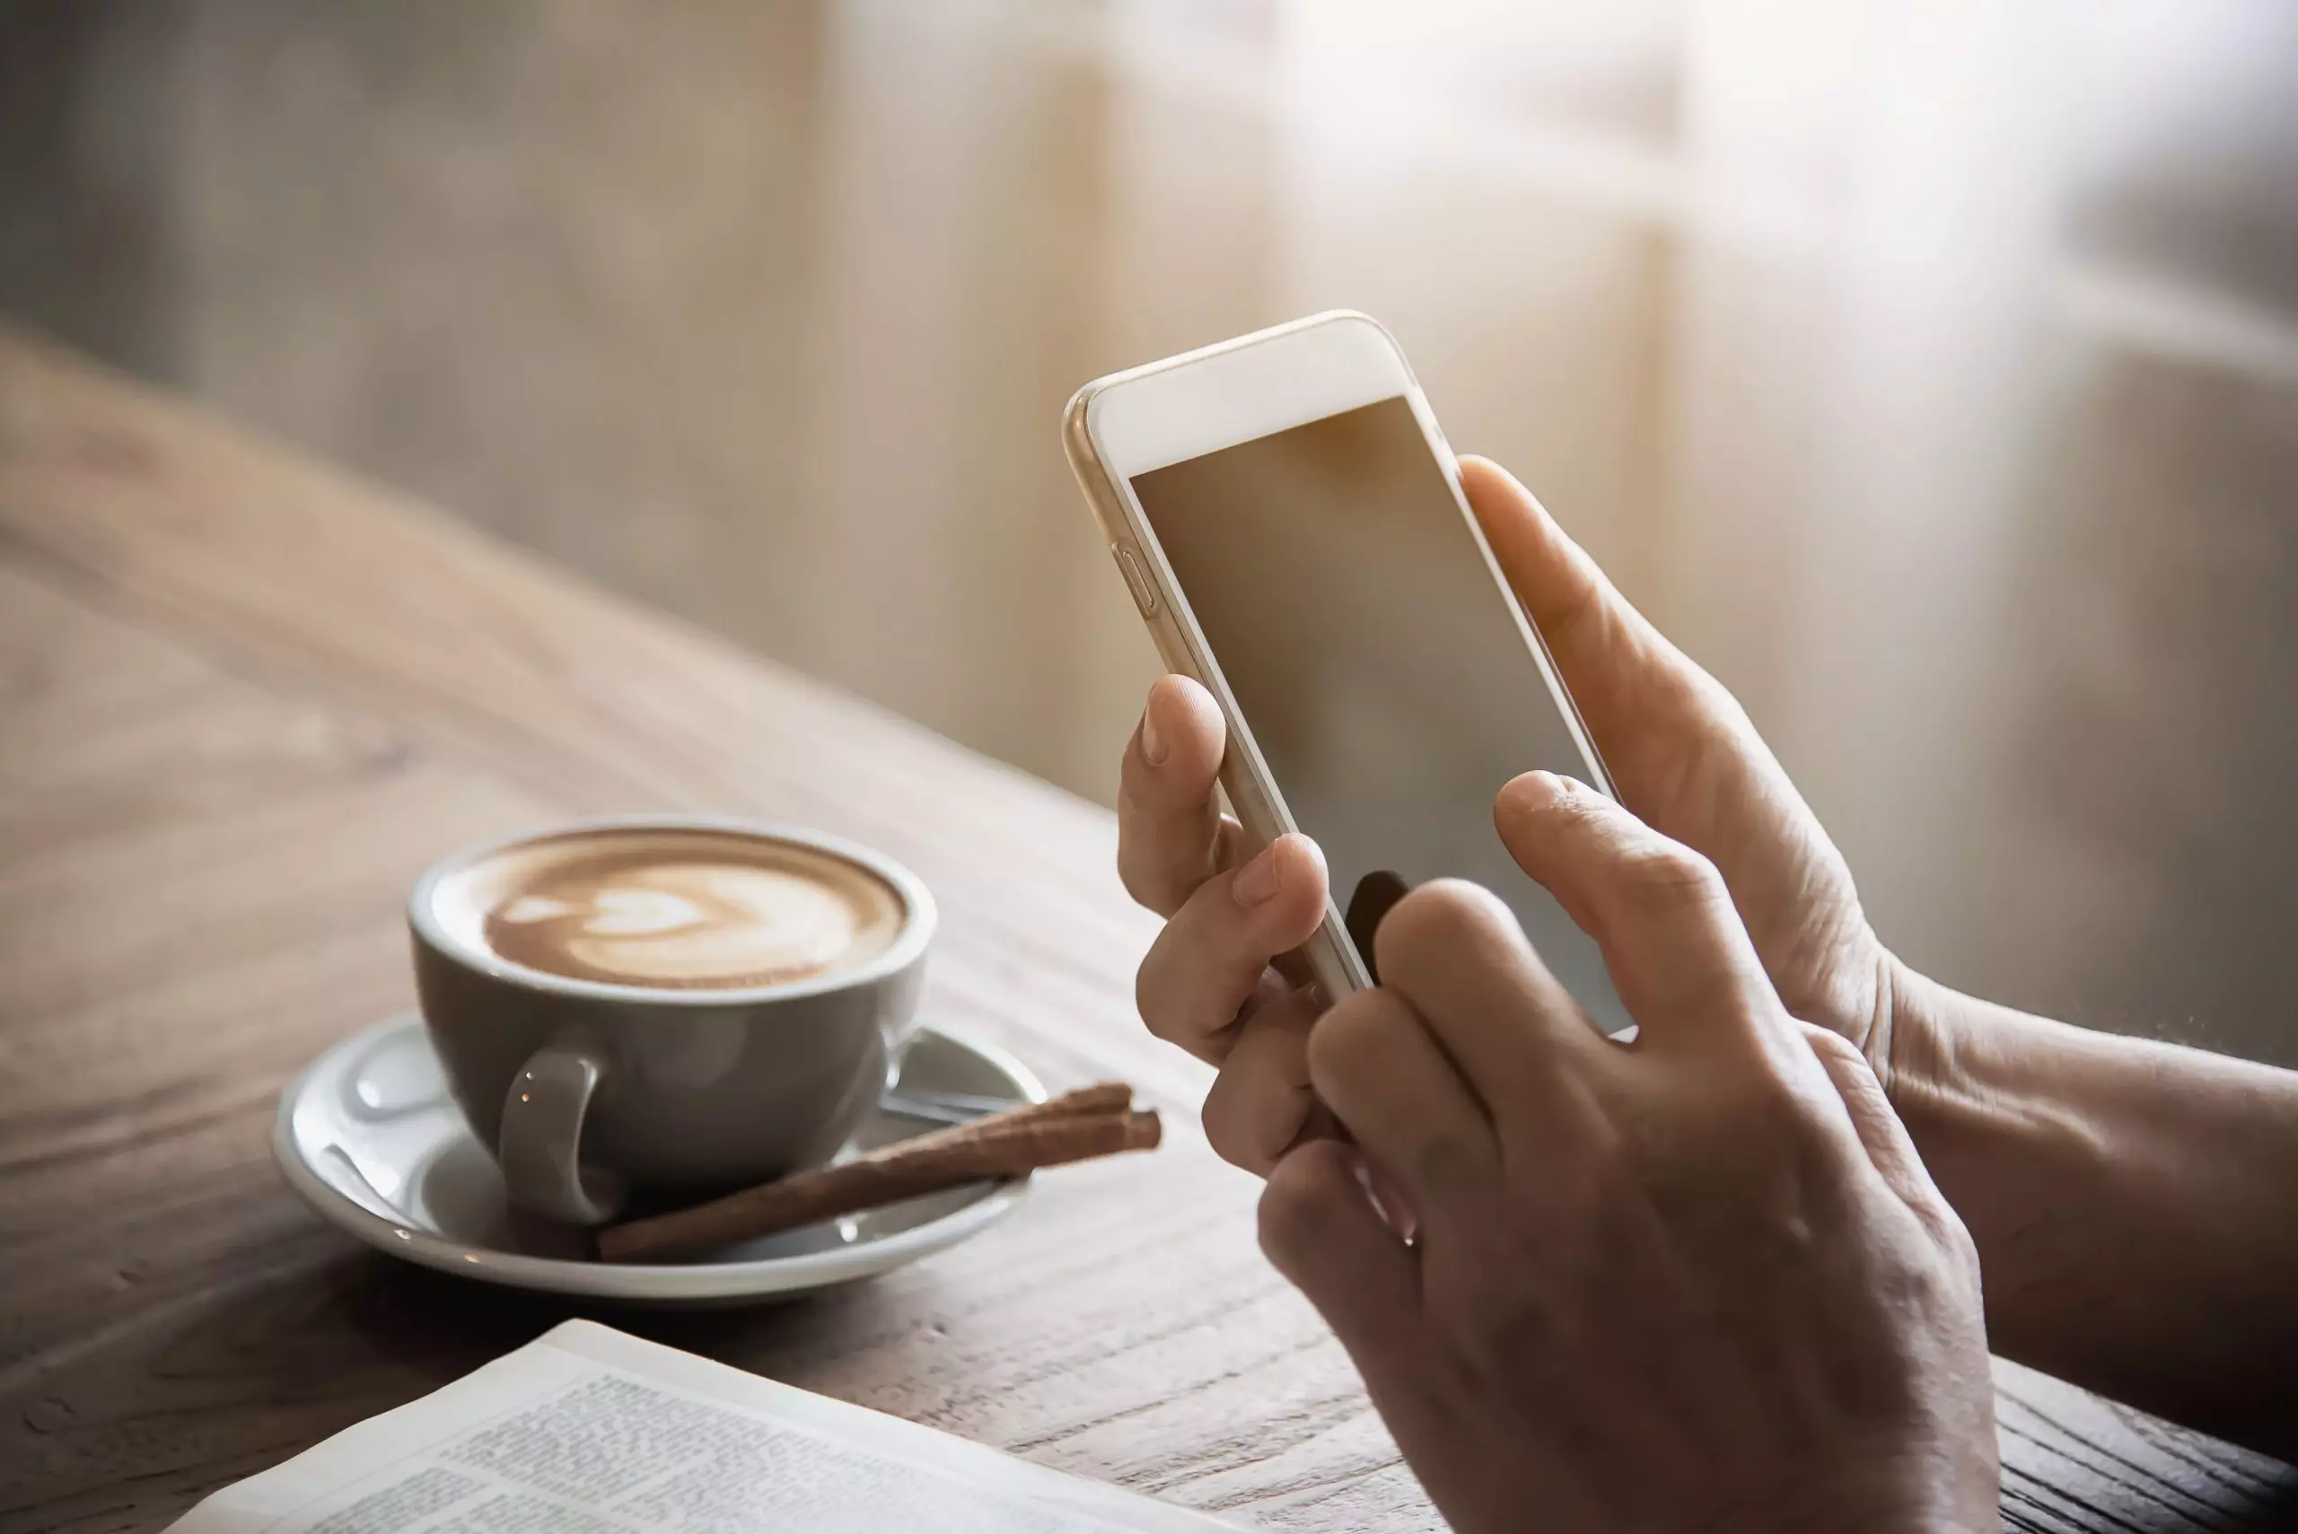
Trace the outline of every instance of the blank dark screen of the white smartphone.
<instances>
[{"instance_id":1,"label":"blank dark screen of the white smartphone","mask_svg":"<svg viewBox=\"0 0 2298 1534\"><path fill-rule=\"evenodd\" d=\"M1494 829L1512 776L1590 772L1411 404L1151 468L1133 494L1367 971L1397 896L1473 880L1599 1029L1625 1029L1595 942Z\"/></svg>"}]
</instances>

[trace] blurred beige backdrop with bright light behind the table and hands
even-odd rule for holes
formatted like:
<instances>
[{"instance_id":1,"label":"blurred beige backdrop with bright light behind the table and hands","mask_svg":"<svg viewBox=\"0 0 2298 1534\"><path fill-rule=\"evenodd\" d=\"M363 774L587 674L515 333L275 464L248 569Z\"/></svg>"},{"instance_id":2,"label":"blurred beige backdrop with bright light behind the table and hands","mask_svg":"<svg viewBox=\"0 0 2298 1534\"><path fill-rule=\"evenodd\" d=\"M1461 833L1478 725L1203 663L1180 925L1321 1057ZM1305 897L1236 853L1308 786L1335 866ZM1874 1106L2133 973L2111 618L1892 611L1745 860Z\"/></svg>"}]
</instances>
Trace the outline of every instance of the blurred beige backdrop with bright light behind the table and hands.
<instances>
[{"instance_id":1,"label":"blurred beige backdrop with bright light behind the table and hands","mask_svg":"<svg viewBox=\"0 0 2298 1534\"><path fill-rule=\"evenodd\" d=\"M1059 406L1331 305L1910 960L2298 1063L2287 0L0 9L9 317L1103 801Z\"/></svg>"}]
</instances>

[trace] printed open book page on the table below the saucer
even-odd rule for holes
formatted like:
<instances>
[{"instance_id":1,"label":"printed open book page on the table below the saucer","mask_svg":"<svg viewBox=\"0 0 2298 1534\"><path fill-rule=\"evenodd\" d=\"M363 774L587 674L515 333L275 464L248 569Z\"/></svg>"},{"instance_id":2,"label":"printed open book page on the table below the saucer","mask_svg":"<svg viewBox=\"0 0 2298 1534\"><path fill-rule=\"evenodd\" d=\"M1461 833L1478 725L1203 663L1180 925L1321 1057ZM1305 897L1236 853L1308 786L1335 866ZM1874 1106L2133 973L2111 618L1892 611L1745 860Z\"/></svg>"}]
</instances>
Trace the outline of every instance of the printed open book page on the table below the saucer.
<instances>
[{"instance_id":1,"label":"printed open book page on the table below the saucer","mask_svg":"<svg viewBox=\"0 0 2298 1534\"><path fill-rule=\"evenodd\" d=\"M568 1320L172 1534L1204 1534L1223 1525Z\"/></svg>"}]
</instances>

